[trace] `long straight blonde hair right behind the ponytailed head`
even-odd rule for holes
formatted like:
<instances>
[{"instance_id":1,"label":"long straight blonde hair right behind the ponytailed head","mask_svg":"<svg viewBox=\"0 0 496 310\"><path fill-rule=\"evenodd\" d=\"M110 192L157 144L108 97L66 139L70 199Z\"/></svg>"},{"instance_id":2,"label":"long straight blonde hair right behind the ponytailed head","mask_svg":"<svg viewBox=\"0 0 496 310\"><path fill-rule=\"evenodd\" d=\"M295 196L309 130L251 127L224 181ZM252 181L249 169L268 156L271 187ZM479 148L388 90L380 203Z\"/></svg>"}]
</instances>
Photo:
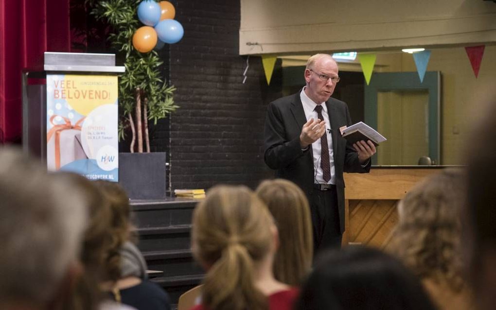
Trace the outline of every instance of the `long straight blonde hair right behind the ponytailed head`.
<instances>
[{"instance_id":1,"label":"long straight blonde hair right behind the ponytailed head","mask_svg":"<svg viewBox=\"0 0 496 310\"><path fill-rule=\"evenodd\" d=\"M255 192L272 213L280 236L274 276L283 283L298 286L310 272L313 257L307 197L300 187L283 179L266 180Z\"/></svg>"}]
</instances>

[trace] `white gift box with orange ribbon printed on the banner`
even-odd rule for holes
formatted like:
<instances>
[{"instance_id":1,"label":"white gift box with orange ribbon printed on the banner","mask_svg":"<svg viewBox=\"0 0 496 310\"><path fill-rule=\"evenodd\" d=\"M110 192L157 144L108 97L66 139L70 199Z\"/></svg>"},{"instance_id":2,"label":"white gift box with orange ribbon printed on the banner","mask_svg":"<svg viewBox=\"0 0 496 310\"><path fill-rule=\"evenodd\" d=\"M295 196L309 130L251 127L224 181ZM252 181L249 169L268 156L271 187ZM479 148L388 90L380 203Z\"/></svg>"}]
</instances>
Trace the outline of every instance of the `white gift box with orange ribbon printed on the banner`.
<instances>
[{"instance_id":1,"label":"white gift box with orange ribbon printed on the banner","mask_svg":"<svg viewBox=\"0 0 496 310\"><path fill-rule=\"evenodd\" d=\"M56 119L64 123L57 124ZM53 127L47 133L47 166L49 170L59 170L68 163L87 159L81 143L81 126L84 118L71 124L68 118L53 115L50 123Z\"/></svg>"}]
</instances>

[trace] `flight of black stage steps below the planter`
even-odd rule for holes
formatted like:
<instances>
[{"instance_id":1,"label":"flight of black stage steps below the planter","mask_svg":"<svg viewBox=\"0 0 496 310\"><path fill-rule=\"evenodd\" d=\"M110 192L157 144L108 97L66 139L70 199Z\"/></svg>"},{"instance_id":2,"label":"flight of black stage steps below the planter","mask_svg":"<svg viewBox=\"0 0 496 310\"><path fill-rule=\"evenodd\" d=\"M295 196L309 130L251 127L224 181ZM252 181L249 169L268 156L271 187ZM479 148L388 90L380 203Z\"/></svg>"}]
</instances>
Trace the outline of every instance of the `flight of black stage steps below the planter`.
<instances>
[{"instance_id":1,"label":"flight of black stage steps below the planter","mask_svg":"<svg viewBox=\"0 0 496 310\"><path fill-rule=\"evenodd\" d=\"M199 285L203 269L191 253L191 216L195 199L131 200L132 219L139 236L138 248L148 269L163 271L151 281L162 286L177 304L181 294Z\"/></svg>"}]
</instances>

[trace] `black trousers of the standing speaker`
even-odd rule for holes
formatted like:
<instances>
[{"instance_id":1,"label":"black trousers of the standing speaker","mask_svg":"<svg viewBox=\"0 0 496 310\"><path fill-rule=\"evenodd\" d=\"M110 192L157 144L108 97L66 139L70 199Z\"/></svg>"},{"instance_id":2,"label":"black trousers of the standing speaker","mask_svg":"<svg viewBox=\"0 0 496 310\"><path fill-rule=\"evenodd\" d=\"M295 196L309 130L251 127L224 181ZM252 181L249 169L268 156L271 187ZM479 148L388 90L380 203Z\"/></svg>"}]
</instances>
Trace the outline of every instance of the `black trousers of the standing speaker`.
<instances>
[{"instance_id":1,"label":"black trousers of the standing speaker","mask_svg":"<svg viewBox=\"0 0 496 310\"><path fill-rule=\"evenodd\" d=\"M313 229L313 253L326 248L341 248L336 186L328 190L313 189L309 196ZM315 257L315 255L314 255Z\"/></svg>"}]
</instances>

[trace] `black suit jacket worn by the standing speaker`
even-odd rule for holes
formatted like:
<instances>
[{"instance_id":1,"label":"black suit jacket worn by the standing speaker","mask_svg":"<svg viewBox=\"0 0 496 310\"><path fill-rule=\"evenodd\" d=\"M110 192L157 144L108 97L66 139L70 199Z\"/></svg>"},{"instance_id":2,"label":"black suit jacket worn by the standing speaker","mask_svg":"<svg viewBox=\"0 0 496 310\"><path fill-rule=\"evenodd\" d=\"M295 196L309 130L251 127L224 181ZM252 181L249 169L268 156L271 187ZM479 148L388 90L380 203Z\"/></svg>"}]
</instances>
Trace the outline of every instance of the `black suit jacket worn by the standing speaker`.
<instances>
[{"instance_id":1,"label":"black suit jacket worn by the standing speaker","mask_svg":"<svg viewBox=\"0 0 496 310\"><path fill-rule=\"evenodd\" d=\"M351 125L350 113L346 103L330 98L326 103L329 113L334 170L336 174L336 191L338 200L341 232L344 231L344 179L343 172L367 173L369 164L364 168L358 160L358 153L353 146L347 145L339 128ZM307 123L300 92L279 98L267 108L265 120L265 154L267 166L276 170L276 177L290 180L300 186L310 197L313 192L314 170L312 148L302 151L300 134ZM327 133L328 134L328 133Z\"/></svg>"}]
</instances>

